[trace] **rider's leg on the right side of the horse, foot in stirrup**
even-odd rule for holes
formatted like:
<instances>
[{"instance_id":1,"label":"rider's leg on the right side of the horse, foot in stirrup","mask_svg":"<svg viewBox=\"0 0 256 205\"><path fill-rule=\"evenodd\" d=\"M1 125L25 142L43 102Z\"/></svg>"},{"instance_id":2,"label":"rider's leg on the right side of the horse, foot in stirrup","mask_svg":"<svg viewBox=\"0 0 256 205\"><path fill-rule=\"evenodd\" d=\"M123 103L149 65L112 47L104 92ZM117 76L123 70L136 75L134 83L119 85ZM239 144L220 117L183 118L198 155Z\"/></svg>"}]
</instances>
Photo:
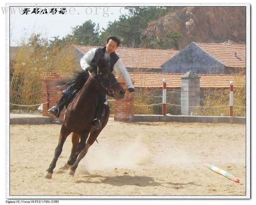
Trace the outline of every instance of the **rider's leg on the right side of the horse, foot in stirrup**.
<instances>
[{"instance_id":1,"label":"rider's leg on the right side of the horse, foot in stirrup","mask_svg":"<svg viewBox=\"0 0 256 205\"><path fill-rule=\"evenodd\" d=\"M95 117L94 117L94 120L93 120L93 126L92 126L96 130L101 129L101 127L102 127L101 115L103 113L105 105L107 105L106 104L107 103L106 97L107 97L106 94L100 94L99 95L99 106L96 110Z\"/></svg>"}]
</instances>

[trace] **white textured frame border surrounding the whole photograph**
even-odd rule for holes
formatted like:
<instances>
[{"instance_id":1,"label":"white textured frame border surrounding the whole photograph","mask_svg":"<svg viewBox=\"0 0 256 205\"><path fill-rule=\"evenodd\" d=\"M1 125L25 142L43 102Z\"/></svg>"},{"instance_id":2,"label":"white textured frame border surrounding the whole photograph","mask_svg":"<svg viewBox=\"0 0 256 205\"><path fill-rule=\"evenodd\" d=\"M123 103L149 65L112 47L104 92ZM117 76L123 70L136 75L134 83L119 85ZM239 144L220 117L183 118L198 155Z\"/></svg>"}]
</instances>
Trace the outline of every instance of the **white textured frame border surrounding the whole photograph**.
<instances>
[{"instance_id":1,"label":"white textured frame border surrounding the whole photograph","mask_svg":"<svg viewBox=\"0 0 256 205\"><path fill-rule=\"evenodd\" d=\"M6 3L6 7L35 6L35 3ZM127 6L127 3L37 3L37 6ZM249 199L251 198L251 4L249 3L129 3L128 6L237 6L246 7L246 195L10 195L10 13L6 14L6 198L7 199Z\"/></svg>"}]
</instances>

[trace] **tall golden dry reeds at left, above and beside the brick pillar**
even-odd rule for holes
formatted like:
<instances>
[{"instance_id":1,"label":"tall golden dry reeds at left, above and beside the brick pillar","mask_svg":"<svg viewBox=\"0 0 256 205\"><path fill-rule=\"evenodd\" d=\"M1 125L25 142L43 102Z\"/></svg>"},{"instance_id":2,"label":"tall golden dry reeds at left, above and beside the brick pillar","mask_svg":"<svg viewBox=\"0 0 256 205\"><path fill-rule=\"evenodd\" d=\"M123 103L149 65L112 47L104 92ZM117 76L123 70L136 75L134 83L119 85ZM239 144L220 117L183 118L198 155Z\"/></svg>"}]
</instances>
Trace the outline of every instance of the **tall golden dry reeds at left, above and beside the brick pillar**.
<instances>
[{"instance_id":1,"label":"tall golden dry reeds at left, above and beside the brick pillar","mask_svg":"<svg viewBox=\"0 0 256 205\"><path fill-rule=\"evenodd\" d=\"M72 51L44 44L21 44L16 50L10 65L10 103L35 105L42 103L42 82L51 71L59 75L72 75L76 61ZM10 109L36 110L38 106Z\"/></svg>"}]
</instances>

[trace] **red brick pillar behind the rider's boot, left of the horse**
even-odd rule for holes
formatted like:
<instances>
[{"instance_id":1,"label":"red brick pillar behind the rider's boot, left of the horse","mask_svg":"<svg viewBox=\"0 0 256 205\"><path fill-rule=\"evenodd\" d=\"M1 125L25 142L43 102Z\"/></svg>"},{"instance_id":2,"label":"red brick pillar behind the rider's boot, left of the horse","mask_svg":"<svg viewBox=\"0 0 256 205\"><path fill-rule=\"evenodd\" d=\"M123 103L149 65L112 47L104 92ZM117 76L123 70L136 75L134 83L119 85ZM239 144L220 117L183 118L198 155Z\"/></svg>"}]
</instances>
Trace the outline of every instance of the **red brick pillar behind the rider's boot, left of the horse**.
<instances>
[{"instance_id":1,"label":"red brick pillar behind the rider's boot, left of the horse","mask_svg":"<svg viewBox=\"0 0 256 205\"><path fill-rule=\"evenodd\" d=\"M48 116L51 117L51 122L53 123L59 123L63 122L64 120L64 109L61 111L60 117L57 118L53 114L48 114L48 109L53 107L54 105L57 104L61 97L61 92L65 90L66 86L62 87L58 85L59 80L65 80L59 75L57 75L56 72L50 72L50 75L45 77L43 79L43 101L44 102L49 102L47 104L43 105L43 116ZM59 90L58 90L59 89Z\"/></svg>"}]
</instances>

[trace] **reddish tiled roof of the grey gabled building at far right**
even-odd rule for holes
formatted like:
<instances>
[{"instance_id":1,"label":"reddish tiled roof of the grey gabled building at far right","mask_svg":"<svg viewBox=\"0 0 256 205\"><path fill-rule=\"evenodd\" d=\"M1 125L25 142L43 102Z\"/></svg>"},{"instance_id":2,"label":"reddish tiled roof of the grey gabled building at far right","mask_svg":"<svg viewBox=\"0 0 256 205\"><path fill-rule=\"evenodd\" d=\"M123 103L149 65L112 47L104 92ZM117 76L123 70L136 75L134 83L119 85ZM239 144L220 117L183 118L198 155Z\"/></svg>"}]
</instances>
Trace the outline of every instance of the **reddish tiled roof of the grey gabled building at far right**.
<instances>
[{"instance_id":1,"label":"reddish tiled roof of the grey gabled building at far right","mask_svg":"<svg viewBox=\"0 0 256 205\"><path fill-rule=\"evenodd\" d=\"M226 67L246 67L246 46L227 43L197 43L197 46L205 52L222 62ZM236 54L235 54L236 53Z\"/></svg>"}]
</instances>

